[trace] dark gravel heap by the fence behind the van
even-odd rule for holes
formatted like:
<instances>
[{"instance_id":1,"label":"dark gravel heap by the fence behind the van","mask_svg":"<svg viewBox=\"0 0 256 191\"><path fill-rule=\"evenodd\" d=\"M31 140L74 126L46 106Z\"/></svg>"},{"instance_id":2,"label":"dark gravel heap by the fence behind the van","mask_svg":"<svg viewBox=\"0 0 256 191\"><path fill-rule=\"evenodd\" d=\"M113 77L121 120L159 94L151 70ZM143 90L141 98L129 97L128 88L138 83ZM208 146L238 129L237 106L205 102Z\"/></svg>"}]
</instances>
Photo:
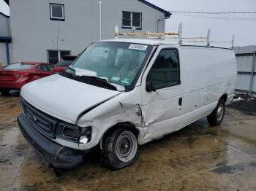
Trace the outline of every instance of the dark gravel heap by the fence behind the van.
<instances>
[{"instance_id":1,"label":"dark gravel heap by the fence behind the van","mask_svg":"<svg viewBox=\"0 0 256 191\"><path fill-rule=\"evenodd\" d=\"M234 99L229 107L237 109L244 114L256 116L256 98L247 94L236 94L238 98Z\"/></svg>"}]
</instances>

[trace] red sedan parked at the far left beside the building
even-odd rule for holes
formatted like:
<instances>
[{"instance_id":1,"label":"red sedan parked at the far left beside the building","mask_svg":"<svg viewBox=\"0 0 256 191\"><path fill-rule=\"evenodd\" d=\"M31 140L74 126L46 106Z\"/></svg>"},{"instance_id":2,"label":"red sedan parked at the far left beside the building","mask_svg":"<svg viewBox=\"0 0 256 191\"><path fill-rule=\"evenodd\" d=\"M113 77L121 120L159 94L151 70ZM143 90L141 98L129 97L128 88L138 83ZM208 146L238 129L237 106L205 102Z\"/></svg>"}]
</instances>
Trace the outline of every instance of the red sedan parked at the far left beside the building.
<instances>
[{"instance_id":1,"label":"red sedan parked at the far left beside the building","mask_svg":"<svg viewBox=\"0 0 256 191\"><path fill-rule=\"evenodd\" d=\"M54 66L49 63L19 62L0 69L0 92L7 94L10 90L20 90L28 82L47 77Z\"/></svg>"}]
</instances>

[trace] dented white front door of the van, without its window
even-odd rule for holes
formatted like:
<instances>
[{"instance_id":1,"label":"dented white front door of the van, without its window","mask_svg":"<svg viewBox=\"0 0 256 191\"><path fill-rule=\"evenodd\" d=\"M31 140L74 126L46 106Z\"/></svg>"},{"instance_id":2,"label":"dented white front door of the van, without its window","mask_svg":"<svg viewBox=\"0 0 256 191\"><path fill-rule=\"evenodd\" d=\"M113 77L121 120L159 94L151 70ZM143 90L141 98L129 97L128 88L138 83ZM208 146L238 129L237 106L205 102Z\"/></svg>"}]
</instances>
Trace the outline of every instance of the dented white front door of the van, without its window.
<instances>
[{"instance_id":1,"label":"dented white front door of the van, without its window","mask_svg":"<svg viewBox=\"0 0 256 191\"><path fill-rule=\"evenodd\" d=\"M149 63L143 76L142 85L142 111L147 129L144 142L161 137L166 133L170 133L178 128L178 124L173 123L173 119L181 114L181 106L178 101L184 93L184 77L182 75L182 66L180 64L181 84L172 87L165 87L156 90L156 92L146 92L146 77L154 61L157 59L162 49L175 48L170 46L160 46L154 55L151 63Z\"/></svg>"}]
</instances>

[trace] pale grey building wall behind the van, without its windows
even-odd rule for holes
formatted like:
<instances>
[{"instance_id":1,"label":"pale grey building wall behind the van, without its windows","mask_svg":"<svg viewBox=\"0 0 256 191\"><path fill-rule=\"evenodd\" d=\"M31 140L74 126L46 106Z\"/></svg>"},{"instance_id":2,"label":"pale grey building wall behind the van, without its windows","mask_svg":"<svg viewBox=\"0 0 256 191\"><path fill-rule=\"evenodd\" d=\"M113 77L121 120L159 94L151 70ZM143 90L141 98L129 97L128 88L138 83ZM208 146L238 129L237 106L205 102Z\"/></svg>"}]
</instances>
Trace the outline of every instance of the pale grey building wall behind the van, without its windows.
<instances>
[{"instance_id":1,"label":"pale grey building wall behind the van, without its windows","mask_svg":"<svg viewBox=\"0 0 256 191\"><path fill-rule=\"evenodd\" d=\"M64 4L65 21L50 20L50 3ZM121 28L122 11L142 12L142 30L165 31L165 14L137 0L102 0L102 39ZM99 40L99 3L95 0L10 1L14 61L47 60L47 50L71 50L78 55ZM59 28L59 40L57 36ZM131 31L121 29L120 31Z\"/></svg>"}]
</instances>

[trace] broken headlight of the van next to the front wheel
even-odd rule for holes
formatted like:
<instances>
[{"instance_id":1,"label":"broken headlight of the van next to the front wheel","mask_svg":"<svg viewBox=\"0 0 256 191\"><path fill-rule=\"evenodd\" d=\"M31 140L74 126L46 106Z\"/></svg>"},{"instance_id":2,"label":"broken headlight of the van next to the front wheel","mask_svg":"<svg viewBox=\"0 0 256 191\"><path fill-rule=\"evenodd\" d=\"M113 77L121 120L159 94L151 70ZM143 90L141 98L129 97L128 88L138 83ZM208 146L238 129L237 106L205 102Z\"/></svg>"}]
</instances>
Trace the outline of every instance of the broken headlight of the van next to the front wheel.
<instances>
[{"instance_id":1,"label":"broken headlight of the van next to the front wheel","mask_svg":"<svg viewBox=\"0 0 256 191\"><path fill-rule=\"evenodd\" d=\"M91 127L78 127L66 122L58 125L56 134L60 139L75 141L80 144L87 144L91 141Z\"/></svg>"}]
</instances>

